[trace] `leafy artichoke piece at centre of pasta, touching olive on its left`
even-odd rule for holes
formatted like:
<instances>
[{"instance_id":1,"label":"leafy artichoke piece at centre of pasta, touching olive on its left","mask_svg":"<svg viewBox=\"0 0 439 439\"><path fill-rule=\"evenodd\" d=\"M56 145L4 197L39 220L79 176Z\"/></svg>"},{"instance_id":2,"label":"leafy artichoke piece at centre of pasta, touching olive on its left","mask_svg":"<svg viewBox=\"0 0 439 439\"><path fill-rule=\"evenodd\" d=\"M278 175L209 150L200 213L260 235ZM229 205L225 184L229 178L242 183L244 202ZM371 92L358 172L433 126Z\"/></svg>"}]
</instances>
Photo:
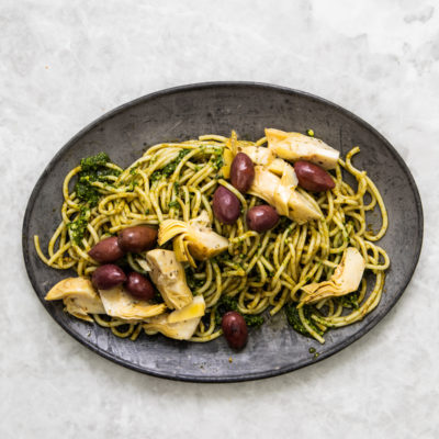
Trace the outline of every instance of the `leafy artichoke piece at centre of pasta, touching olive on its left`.
<instances>
[{"instance_id":1,"label":"leafy artichoke piece at centre of pasta, touching olive on its left","mask_svg":"<svg viewBox=\"0 0 439 439\"><path fill-rule=\"evenodd\" d=\"M173 251L177 260L189 262L192 267L195 267L193 258L206 260L228 248L228 239L212 229L205 211L189 222L165 219L158 230L158 244L161 246L176 236Z\"/></svg>"}]
</instances>

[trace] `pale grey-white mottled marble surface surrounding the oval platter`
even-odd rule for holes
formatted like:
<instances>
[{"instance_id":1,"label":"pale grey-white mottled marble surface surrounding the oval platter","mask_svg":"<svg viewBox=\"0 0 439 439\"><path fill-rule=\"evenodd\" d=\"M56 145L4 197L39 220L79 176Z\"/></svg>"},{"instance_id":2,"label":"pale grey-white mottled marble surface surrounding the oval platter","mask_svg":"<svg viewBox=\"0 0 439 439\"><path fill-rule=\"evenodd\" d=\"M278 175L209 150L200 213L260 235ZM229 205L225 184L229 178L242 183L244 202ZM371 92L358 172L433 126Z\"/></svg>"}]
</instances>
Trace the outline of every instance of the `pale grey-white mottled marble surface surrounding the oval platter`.
<instances>
[{"instance_id":1,"label":"pale grey-white mottled marble surface surrounding the oval platter","mask_svg":"<svg viewBox=\"0 0 439 439\"><path fill-rule=\"evenodd\" d=\"M3 212L0 437L439 437L439 3L0 1ZM232 385L145 376L87 350L27 281L21 224L50 157L87 123L154 90L256 80L333 100L408 164L425 244L370 334L283 376Z\"/></svg>"}]
</instances>

